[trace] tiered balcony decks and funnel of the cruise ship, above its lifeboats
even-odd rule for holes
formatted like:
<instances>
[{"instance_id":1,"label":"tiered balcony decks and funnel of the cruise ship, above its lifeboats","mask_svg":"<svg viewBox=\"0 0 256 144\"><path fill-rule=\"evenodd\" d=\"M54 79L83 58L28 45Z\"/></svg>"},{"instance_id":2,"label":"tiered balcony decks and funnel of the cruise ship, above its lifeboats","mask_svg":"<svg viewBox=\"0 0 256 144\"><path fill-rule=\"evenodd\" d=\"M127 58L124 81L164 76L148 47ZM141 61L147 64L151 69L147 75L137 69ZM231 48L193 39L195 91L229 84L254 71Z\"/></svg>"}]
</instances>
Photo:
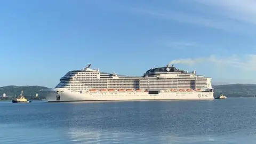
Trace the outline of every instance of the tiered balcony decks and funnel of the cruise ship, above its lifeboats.
<instances>
[{"instance_id":1,"label":"tiered balcony decks and funnel of the cruise ship, above its lifeboats","mask_svg":"<svg viewBox=\"0 0 256 144\"><path fill-rule=\"evenodd\" d=\"M104 73L99 69L91 69L91 65L81 69L72 70L60 78L56 87L70 87L83 89L86 86L98 88L129 88L137 89L150 86L150 89L171 89L180 87L182 89L195 89L196 87L211 87L211 78L196 75L196 71L184 71L167 65L166 67L152 68L143 76L124 76L116 73ZM78 86L78 87L77 87ZM85 88L84 88L85 86ZM162 87L162 88L161 88ZM71 89L70 88L70 89ZM138 88L138 89L139 89ZM82 88L81 88L82 89ZM87 89L87 88L86 88Z\"/></svg>"}]
</instances>

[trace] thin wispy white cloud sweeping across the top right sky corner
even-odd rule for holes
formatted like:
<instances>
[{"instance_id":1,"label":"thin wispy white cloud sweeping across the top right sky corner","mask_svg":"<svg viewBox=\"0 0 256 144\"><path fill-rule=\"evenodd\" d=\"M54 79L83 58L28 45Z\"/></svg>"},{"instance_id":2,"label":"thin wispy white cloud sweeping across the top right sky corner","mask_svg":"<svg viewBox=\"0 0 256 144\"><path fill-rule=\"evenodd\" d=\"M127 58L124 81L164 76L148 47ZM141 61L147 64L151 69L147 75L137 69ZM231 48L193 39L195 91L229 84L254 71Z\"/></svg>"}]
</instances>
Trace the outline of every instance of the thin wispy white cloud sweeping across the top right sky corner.
<instances>
[{"instance_id":1,"label":"thin wispy white cloud sweeping across the top right sky corner","mask_svg":"<svg viewBox=\"0 0 256 144\"><path fill-rule=\"evenodd\" d=\"M184 7L192 4L190 10L199 12L196 14L162 6L157 7L157 5L149 8L146 4L145 6L129 6L117 2L109 4L101 1L102 5L107 5L111 10L147 14L156 19L190 23L236 33L254 34L256 32L256 2L253 0L191 0L180 2ZM166 5L168 4L166 3ZM215 17L212 17L213 15Z\"/></svg>"}]
</instances>

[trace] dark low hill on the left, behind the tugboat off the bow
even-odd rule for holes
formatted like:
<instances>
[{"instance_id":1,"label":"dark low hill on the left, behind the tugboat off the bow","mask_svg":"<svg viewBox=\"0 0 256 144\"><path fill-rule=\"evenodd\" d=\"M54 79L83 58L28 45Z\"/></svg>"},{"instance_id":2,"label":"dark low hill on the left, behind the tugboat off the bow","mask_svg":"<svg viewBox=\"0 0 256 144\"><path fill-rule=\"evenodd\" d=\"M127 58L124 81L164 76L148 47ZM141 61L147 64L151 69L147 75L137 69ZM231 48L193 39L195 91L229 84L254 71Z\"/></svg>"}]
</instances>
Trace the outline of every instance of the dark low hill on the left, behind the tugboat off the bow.
<instances>
[{"instance_id":1,"label":"dark low hill on the left, behind the tugboat off the bow","mask_svg":"<svg viewBox=\"0 0 256 144\"><path fill-rule=\"evenodd\" d=\"M46 92L42 92L40 90L49 89L45 86L15 86L15 85L8 85L0 87L0 98L3 97L3 93L6 94L7 97L18 97L23 90L23 95L26 98L34 98L36 93L38 94L38 98L45 98Z\"/></svg>"}]
</instances>

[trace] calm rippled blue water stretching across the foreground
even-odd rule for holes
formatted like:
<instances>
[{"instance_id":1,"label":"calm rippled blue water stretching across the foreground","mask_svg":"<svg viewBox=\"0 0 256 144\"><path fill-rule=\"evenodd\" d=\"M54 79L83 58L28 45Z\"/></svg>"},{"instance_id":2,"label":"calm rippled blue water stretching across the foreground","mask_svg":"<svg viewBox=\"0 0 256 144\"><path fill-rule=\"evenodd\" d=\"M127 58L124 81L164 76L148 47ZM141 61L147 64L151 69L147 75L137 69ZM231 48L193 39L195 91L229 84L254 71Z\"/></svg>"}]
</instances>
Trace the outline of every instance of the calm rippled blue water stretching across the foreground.
<instances>
[{"instance_id":1,"label":"calm rippled blue water stretching across the foreground","mask_svg":"<svg viewBox=\"0 0 256 144\"><path fill-rule=\"evenodd\" d=\"M256 98L0 102L0 143L256 143Z\"/></svg>"}]
</instances>

